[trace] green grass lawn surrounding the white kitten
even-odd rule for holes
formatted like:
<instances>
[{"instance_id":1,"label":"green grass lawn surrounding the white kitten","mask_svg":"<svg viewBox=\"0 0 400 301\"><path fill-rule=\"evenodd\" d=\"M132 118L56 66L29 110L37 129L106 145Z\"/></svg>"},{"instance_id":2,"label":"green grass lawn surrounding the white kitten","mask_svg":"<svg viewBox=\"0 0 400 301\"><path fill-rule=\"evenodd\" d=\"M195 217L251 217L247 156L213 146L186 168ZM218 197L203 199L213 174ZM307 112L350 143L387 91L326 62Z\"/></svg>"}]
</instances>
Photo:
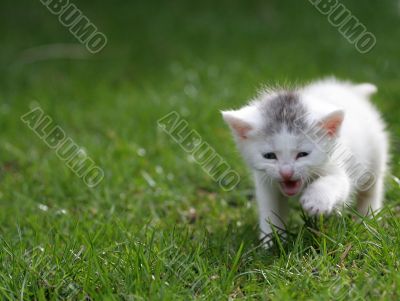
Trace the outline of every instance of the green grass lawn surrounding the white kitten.
<instances>
[{"instance_id":1,"label":"green grass lawn surrounding the white kitten","mask_svg":"<svg viewBox=\"0 0 400 301\"><path fill-rule=\"evenodd\" d=\"M385 210L361 222L309 219L293 201L287 240L263 250L251 179L219 115L264 83L373 82L398 174L398 1L342 2L376 35L372 52L308 1L77 0L108 45L39 59L37 46L77 41L40 1L3 1L2 299L398 300L396 178ZM105 171L98 187L21 122L35 105ZM242 175L237 189L221 190L157 127L173 110Z\"/></svg>"}]
</instances>

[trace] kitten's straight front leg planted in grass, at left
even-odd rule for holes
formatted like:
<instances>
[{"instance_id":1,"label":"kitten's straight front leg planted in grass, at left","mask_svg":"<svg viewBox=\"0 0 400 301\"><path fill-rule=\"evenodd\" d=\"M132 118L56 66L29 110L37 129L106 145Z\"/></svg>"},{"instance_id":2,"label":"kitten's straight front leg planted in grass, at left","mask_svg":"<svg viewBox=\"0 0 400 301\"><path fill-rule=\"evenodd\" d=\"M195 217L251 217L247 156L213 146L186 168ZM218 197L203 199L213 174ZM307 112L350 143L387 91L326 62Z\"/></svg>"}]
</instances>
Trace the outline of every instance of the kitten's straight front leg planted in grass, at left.
<instances>
[{"instance_id":1,"label":"kitten's straight front leg planted in grass, at left","mask_svg":"<svg viewBox=\"0 0 400 301\"><path fill-rule=\"evenodd\" d=\"M260 239L265 239L272 233L271 224L278 229L284 229L288 204L278 187L263 179L262 175L256 174L255 181L261 230Z\"/></svg>"}]
</instances>

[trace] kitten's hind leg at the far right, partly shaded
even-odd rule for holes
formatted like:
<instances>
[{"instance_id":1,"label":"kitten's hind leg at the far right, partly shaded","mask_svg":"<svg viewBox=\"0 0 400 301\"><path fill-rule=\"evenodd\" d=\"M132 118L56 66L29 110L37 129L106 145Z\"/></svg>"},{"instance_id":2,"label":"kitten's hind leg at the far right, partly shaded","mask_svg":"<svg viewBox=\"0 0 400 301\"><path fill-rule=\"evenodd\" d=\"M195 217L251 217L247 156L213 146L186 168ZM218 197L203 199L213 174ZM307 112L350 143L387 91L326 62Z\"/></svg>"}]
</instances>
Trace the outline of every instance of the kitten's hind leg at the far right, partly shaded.
<instances>
[{"instance_id":1,"label":"kitten's hind leg at the far right, partly shaded","mask_svg":"<svg viewBox=\"0 0 400 301\"><path fill-rule=\"evenodd\" d=\"M375 183L366 191L361 191L357 197L357 209L363 215L371 214L382 207L384 194L384 175L379 175Z\"/></svg>"}]
</instances>

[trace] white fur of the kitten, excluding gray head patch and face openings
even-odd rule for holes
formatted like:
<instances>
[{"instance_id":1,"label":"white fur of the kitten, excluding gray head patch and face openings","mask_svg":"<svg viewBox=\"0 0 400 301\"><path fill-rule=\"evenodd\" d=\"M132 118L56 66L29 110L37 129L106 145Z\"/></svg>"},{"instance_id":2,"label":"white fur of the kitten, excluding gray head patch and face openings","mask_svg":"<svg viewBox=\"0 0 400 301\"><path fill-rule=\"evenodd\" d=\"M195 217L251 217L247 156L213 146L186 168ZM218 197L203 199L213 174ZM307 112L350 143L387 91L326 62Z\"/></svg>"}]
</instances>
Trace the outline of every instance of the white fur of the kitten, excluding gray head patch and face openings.
<instances>
[{"instance_id":1,"label":"white fur of the kitten, excluding gray head patch and face openings","mask_svg":"<svg viewBox=\"0 0 400 301\"><path fill-rule=\"evenodd\" d=\"M337 135L328 139L327 143L337 145L329 154L321 147L321 141L304 139L285 129L272 137L263 134L265 120L260 106L276 92L262 93L242 109L222 112L254 174L262 237L271 233L270 224L284 226L287 197L278 182L282 181L279 171L288 166L294 171L293 180L302 180L300 203L311 215L339 210L350 203L353 194L358 210L364 215L382 207L389 146L385 124L369 102L376 90L372 84L354 85L336 79L317 81L297 90L308 121L321 121L330 114L339 120L344 116ZM232 120L249 125L245 135L237 135ZM278 159L263 158L262 154L268 152L276 153ZM299 152L309 155L296 159ZM365 170L353 174L357 169L354 166ZM367 189L359 185L365 171L374 175Z\"/></svg>"}]
</instances>

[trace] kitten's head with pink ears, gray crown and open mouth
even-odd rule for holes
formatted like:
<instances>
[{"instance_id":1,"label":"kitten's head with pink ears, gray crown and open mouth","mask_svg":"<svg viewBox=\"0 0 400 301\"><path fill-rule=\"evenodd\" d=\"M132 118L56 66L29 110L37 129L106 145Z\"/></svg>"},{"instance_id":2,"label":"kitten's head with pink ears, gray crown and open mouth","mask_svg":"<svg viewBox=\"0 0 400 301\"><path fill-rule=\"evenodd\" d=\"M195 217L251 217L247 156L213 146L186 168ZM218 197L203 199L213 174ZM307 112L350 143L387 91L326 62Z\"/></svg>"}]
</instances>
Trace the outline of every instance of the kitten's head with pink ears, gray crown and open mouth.
<instances>
[{"instance_id":1,"label":"kitten's head with pink ears, gray crown and open mouth","mask_svg":"<svg viewBox=\"0 0 400 301\"><path fill-rule=\"evenodd\" d=\"M296 195L322 171L326 143L336 139L343 111L313 120L299 94L283 91L260 98L222 112L223 118L247 164L265 181L278 183L285 195Z\"/></svg>"}]
</instances>

